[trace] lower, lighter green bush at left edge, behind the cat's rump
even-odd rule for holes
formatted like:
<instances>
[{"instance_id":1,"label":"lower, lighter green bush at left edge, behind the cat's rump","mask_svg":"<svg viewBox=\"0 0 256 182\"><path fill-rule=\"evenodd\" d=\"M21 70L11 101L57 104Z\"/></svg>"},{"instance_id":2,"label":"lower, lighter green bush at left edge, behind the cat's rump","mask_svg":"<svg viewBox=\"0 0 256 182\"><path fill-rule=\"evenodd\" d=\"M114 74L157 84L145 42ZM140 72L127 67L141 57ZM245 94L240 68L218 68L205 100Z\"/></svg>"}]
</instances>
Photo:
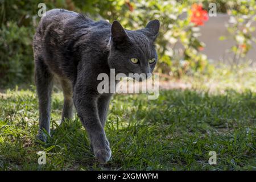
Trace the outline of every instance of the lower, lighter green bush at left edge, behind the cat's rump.
<instances>
[{"instance_id":1,"label":"lower, lighter green bush at left edge, behind the cat's rump","mask_svg":"<svg viewBox=\"0 0 256 182\"><path fill-rule=\"evenodd\" d=\"M32 34L34 28L8 22L0 30L0 84L31 82L33 72Z\"/></svg>"}]
</instances>

